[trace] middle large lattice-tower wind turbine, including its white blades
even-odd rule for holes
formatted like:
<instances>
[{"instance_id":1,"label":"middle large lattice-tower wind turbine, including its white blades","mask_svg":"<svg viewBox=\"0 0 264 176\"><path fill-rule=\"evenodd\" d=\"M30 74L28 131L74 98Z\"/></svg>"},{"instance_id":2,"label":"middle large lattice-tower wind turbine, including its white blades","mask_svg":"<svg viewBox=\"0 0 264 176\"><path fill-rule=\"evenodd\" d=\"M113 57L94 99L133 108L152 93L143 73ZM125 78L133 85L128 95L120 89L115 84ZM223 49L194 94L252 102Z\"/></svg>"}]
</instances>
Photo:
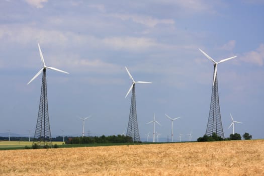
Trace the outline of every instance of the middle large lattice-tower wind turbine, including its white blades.
<instances>
[{"instance_id":1,"label":"middle large lattice-tower wind turbine, including its white blades","mask_svg":"<svg viewBox=\"0 0 264 176\"><path fill-rule=\"evenodd\" d=\"M126 97L132 90L131 95L131 105L130 105L130 113L129 113L129 120L128 120L128 127L127 127L127 136L132 137L133 141L140 141L139 131L138 131L138 124L137 124L137 110L136 110L136 92L135 92L135 84L136 83L152 83L152 82L145 82L145 81L135 81L131 76L130 72L128 71L127 67L125 67L129 77L132 80L132 85L128 90ZM125 97L125 98L126 98Z\"/></svg>"}]
</instances>

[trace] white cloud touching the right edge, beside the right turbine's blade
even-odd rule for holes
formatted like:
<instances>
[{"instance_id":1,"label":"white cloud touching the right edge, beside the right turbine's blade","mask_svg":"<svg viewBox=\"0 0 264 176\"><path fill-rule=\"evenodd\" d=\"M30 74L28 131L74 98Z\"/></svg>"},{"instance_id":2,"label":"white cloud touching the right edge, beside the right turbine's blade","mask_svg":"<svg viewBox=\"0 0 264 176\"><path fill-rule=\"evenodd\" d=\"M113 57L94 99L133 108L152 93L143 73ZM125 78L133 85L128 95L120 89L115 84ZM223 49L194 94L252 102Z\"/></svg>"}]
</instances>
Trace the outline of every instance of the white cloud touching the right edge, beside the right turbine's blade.
<instances>
[{"instance_id":1,"label":"white cloud touching the right edge, beside the right turbine's blade","mask_svg":"<svg viewBox=\"0 0 264 176\"><path fill-rule=\"evenodd\" d=\"M264 44L260 44L254 51L244 53L243 56L241 56L241 60L262 66L264 61Z\"/></svg>"}]
</instances>

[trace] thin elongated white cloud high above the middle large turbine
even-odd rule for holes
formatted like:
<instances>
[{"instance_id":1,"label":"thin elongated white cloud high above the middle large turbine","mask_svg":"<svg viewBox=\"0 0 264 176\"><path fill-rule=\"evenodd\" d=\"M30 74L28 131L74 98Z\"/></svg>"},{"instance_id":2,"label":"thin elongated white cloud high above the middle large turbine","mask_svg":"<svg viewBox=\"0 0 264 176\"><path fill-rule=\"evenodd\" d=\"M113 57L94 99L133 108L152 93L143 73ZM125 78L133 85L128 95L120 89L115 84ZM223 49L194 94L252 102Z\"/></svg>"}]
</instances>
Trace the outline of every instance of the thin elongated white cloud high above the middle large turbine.
<instances>
[{"instance_id":1,"label":"thin elongated white cloud high above the middle large turbine","mask_svg":"<svg viewBox=\"0 0 264 176\"><path fill-rule=\"evenodd\" d=\"M155 19L149 16L139 15L125 15L125 14L112 14L112 17L125 20L132 20L134 23L142 24L147 27L153 28L158 24L173 25L175 22L172 19Z\"/></svg>"}]
</instances>

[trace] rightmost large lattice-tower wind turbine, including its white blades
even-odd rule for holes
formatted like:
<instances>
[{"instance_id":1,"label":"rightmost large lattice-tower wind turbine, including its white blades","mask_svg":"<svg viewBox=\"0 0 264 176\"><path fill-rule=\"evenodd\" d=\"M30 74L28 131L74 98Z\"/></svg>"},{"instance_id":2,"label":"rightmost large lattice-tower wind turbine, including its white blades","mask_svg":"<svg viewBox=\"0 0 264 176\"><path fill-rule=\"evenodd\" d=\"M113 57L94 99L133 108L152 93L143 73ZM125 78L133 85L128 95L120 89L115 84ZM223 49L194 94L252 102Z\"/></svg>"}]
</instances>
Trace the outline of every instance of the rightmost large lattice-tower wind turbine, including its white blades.
<instances>
[{"instance_id":1,"label":"rightmost large lattice-tower wind turbine, including its white blades","mask_svg":"<svg viewBox=\"0 0 264 176\"><path fill-rule=\"evenodd\" d=\"M209 55L207 55L204 51L202 51L201 49L199 50L214 64L212 97L211 97L211 105L210 105L208 123L207 123L207 128L206 128L206 135L211 136L215 132L218 136L221 136L222 138L224 138L224 131L223 131L223 126L222 126L221 114L220 114L219 96L218 96L217 65L219 63L233 59L237 56L229 57L226 59L222 59L219 62L216 62Z\"/></svg>"}]
</instances>

